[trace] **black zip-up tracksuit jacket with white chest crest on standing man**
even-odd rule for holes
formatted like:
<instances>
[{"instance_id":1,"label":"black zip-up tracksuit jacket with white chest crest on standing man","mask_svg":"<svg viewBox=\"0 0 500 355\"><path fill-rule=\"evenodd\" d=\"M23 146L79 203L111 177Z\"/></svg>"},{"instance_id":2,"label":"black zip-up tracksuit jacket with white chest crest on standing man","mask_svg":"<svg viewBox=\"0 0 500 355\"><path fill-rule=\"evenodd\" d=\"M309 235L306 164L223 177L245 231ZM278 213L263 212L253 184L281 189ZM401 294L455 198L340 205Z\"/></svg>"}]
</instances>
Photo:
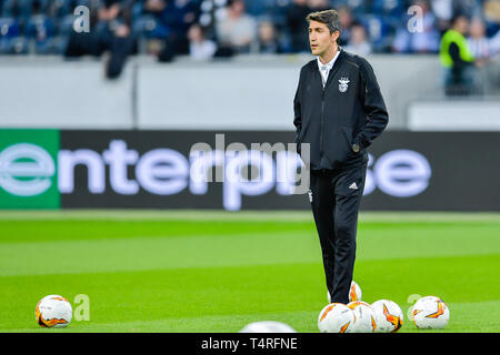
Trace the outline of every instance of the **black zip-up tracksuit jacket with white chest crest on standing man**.
<instances>
[{"instance_id":1,"label":"black zip-up tracksuit jacket with white chest crest on standing man","mask_svg":"<svg viewBox=\"0 0 500 355\"><path fill-rule=\"evenodd\" d=\"M324 89L317 60L302 67L293 108L298 152L302 155L301 144L310 143L311 170L366 164L366 149L389 121L373 69L366 59L343 49ZM360 146L358 153L352 150L354 143Z\"/></svg>"}]
</instances>

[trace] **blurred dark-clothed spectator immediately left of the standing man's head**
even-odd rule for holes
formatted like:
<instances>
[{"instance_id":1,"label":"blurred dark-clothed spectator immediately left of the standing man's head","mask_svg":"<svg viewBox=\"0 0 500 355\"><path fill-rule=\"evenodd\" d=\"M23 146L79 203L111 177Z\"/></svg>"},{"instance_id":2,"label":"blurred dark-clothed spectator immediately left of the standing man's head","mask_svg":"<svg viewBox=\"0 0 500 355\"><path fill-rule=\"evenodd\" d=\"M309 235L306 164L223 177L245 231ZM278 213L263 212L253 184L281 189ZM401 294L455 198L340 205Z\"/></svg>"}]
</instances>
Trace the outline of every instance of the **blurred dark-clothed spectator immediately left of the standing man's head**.
<instances>
[{"instance_id":1,"label":"blurred dark-clothed spectator immediately left of the standing man's head","mask_svg":"<svg viewBox=\"0 0 500 355\"><path fill-rule=\"evenodd\" d=\"M287 11L287 27L291 37L293 52L309 51L308 23L306 17L311 12L308 0L292 0Z\"/></svg>"}]
</instances>

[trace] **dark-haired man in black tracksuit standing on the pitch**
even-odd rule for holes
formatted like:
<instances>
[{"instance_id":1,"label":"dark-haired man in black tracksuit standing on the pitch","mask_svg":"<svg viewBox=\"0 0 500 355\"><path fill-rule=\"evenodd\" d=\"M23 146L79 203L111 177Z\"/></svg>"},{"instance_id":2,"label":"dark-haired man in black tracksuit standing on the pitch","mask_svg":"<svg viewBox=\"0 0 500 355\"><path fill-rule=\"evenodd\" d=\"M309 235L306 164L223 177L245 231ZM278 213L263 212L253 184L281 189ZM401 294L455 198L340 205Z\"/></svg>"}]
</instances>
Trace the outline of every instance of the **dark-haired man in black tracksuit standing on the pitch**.
<instances>
[{"instance_id":1,"label":"dark-haired man in black tracksuit standing on the pitch","mask_svg":"<svg viewBox=\"0 0 500 355\"><path fill-rule=\"evenodd\" d=\"M347 304L367 148L382 133L389 115L371 65L338 45L341 31L338 12L313 12L307 21L311 51L317 59L300 71L293 100L296 143L299 153L300 144L310 144L309 201L328 292L331 302Z\"/></svg>"}]
</instances>

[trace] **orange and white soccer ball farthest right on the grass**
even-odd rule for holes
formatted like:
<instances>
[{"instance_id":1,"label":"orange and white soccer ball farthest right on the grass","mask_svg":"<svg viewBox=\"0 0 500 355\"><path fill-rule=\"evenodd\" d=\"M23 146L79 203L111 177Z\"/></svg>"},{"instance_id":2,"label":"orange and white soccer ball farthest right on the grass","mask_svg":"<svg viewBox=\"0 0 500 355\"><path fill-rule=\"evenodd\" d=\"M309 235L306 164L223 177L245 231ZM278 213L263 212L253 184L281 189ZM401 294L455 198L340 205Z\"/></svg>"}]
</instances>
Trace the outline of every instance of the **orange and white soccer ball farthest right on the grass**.
<instances>
[{"instance_id":1,"label":"orange and white soccer ball farthest right on the grass","mask_svg":"<svg viewBox=\"0 0 500 355\"><path fill-rule=\"evenodd\" d=\"M442 329L450 320L450 310L441 298L426 296L413 305L411 317L419 329Z\"/></svg>"}]
</instances>

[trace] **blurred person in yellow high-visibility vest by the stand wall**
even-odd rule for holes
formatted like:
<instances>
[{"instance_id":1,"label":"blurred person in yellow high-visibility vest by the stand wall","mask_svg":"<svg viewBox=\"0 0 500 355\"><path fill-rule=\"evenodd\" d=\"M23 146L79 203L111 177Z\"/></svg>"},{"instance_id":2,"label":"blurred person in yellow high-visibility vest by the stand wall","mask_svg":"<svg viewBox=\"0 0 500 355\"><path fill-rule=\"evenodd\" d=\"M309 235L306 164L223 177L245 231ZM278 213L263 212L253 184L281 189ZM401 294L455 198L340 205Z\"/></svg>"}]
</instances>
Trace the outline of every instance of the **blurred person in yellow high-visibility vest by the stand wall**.
<instances>
[{"instance_id":1,"label":"blurred person in yellow high-visibility vest by the stand wall","mask_svg":"<svg viewBox=\"0 0 500 355\"><path fill-rule=\"evenodd\" d=\"M477 90L474 63L480 67L482 62L474 61L466 39L468 31L468 18L458 14L451 21L451 29L441 39L439 55L446 68L447 95L466 95Z\"/></svg>"}]
</instances>

